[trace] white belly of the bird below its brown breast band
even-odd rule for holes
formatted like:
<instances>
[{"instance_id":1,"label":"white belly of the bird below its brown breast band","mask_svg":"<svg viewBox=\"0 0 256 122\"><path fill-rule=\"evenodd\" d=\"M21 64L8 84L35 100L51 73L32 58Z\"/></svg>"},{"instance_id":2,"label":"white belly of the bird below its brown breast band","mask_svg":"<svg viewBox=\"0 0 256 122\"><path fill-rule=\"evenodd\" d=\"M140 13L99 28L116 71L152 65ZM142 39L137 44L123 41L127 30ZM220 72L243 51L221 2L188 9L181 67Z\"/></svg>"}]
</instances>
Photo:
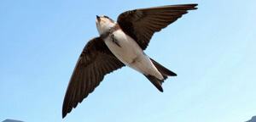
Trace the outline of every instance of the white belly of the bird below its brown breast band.
<instances>
[{"instance_id":1,"label":"white belly of the bird below its brown breast band","mask_svg":"<svg viewBox=\"0 0 256 122\"><path fill-rule=\"evenodd\" d=\"M113 36L116 42L113 42L112 36L108 36L105 43L122 63L144 75L155 75L159 79L163 78L150 58L143 53L143 49L130 36L125 35L123 31L114 31Z\"/></svg>"}]
</instances>

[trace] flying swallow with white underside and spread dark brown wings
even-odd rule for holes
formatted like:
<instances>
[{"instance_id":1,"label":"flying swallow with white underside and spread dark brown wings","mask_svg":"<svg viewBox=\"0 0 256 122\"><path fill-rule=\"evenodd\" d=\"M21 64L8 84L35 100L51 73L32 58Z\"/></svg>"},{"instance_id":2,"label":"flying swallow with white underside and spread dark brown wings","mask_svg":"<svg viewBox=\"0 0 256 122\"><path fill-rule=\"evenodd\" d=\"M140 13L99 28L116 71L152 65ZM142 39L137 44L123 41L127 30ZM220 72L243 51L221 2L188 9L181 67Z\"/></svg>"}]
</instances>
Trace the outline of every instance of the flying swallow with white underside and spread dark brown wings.
<instances>
[{"instance_id":1,"label":"flying swallow with white underside and spread dark brown wings","mask_svg":"<svg viewBox=\"0 0 256 122\"><path fill-rule=\"evenodd\" d=\"M84 47L67 86L62 118L76 108L85 97L113 70L127 65L145 75L163 92L162 83L174 72L158 64L143 53L154 32L166 28L197 4L179 4L154 8L140 8L119 14L117 22L108 16L96 16L100 36L92 38Z\"/></svg>"}]
</instances>

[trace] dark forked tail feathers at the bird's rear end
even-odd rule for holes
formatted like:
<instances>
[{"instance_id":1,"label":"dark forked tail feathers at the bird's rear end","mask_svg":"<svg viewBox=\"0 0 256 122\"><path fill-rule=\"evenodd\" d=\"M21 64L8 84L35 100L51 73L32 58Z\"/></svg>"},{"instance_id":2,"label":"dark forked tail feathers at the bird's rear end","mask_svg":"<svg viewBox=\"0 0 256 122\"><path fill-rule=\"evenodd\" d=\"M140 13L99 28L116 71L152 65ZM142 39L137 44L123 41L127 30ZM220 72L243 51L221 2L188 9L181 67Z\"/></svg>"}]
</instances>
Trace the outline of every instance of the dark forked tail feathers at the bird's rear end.
<instances>
[{"instance_id":1,"label":"dark forked tail feathers at the bird's rear end","mask_svg":"<svg viewBox=\"0 0 256 122\"><path fill-rule=\"evenodd\" d=\"M150 60L152 61L152 63L154 64L154 66L156 67L156 69L158 69L160 71L160 74L163 75L164 79L160 80L158 78L156 78L154 75L145 75L148 80L150 80L153 85L160 91L163 92L163 88L162 88L162 83L164 82L164 80L166 80L166 78L168 76L177 76L174 72L172 72L169 69L166 69L164 66L162 66L161 64L157 63L156 61L154 61L154 59L150 58Z\"/></svg>"}]
</instances>

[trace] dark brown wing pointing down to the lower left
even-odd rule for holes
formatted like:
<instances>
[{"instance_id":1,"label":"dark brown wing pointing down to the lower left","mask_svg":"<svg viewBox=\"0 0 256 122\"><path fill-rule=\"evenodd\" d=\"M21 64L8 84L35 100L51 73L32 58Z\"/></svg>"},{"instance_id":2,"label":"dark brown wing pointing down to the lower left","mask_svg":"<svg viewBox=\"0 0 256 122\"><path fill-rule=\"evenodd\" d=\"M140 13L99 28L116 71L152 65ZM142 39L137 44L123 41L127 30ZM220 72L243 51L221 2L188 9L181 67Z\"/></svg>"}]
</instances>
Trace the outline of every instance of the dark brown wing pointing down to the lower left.
<instances>
[{"instance_id":1,"label":"dark brown wing pointing down to the lower left","mask_svg":"<svg viewBox=\"0 0 256 122\"><path fill-rule=\"evenodd\" d=\"M104 75L125 66L110 52L100 37L90 40L84 47L67 86L62 117L76 108L100 84Z\"/></svg>"}]
</instances>

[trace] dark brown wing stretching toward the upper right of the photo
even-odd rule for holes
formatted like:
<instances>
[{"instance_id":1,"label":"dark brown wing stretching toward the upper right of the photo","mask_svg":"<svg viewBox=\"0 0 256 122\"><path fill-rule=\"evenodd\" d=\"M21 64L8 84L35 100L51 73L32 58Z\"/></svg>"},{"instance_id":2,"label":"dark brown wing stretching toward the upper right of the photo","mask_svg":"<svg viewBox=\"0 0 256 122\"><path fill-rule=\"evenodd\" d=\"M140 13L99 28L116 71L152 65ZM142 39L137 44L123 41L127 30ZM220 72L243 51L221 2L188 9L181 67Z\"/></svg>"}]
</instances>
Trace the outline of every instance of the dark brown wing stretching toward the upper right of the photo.
<instances>
[{"instance_id":1,"label":"dark brown wing stretching toward the upper right of the photo","mask_svg":"<svg viewBox=\"0 0 256 122\"><path fill-rule=\"evenodd\" d=\"M140 8L119 14L118 24L142 49L146 49L154 32L172 24L197 4L169 5L155 8Z\"/></svg>"}]
</instances>

